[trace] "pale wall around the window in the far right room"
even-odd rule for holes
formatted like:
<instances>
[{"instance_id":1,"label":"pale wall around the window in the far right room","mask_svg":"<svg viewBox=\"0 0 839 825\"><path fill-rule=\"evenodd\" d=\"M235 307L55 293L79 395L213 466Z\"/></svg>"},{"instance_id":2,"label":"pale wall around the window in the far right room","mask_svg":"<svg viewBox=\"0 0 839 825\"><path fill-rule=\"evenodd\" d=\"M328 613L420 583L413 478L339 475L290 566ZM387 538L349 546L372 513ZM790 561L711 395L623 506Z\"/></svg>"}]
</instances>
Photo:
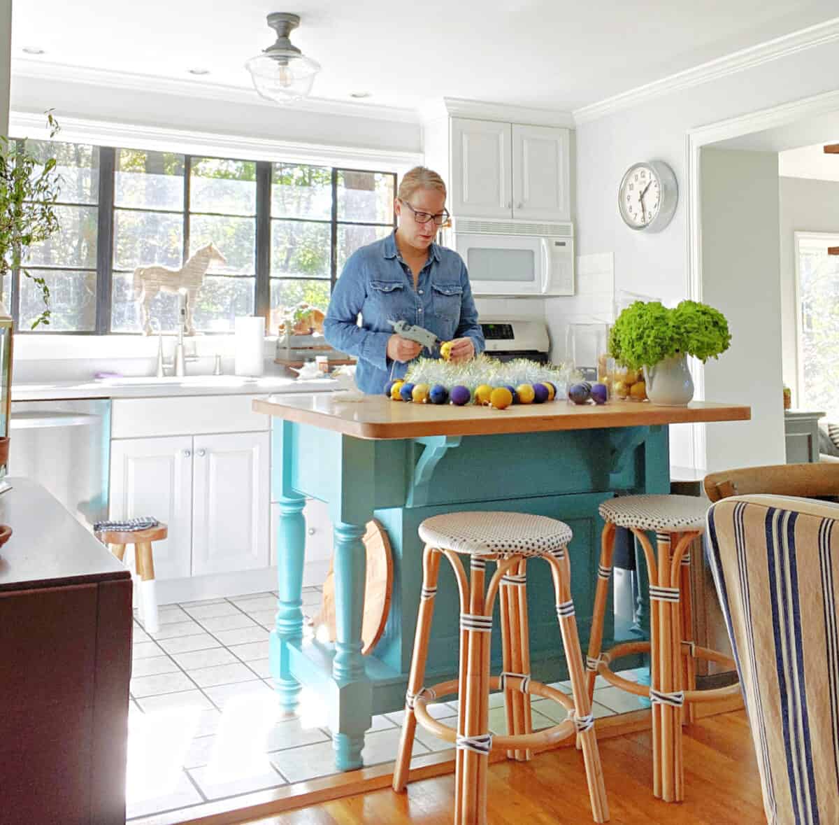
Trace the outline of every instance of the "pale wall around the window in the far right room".
<instances>
[{"instance_id":1,"label":"pale wall around the window in the far right room","mask_svg":"<svg viewBox=\"0 0 839 825\"><path fill-rule=\"evenodd\" d=\"M835 160L839 169L839 159ZM781 331L784 384L793 388L797 369L795 319L795 233L832 232L839 234L839 183L782 177L779 181Z\"/></svg>"}]
</instances>

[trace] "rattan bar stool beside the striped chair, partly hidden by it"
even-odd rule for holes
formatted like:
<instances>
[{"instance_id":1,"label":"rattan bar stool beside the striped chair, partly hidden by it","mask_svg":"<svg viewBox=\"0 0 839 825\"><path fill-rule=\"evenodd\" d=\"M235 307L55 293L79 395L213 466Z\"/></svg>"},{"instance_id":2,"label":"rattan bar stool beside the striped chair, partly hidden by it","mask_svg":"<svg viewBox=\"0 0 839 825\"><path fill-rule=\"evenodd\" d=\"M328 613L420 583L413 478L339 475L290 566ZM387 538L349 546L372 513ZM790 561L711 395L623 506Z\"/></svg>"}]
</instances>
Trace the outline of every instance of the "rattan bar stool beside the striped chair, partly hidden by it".
<instances>
[{"instance_id":1,"label":"rattan bar stool beside the striped chair, partly hidden by it","mask_svg":"<svg viewBox=\"0 0 839 825\"><path fill-rule=\"evenodd\" d=\"M588 695L597 675L636 696L649 696L653 708L653 793L667 802L685 798L682 723L695 721L694 702L711 702L740 691L737 684L696 690L696 659L734 668L731 657L693 641L690 600L690 543L705 530L708 503L693 496L623 496L600 505L606 522L591 621L586 670ZM624 642L602 652L615 528L628 528L641 547L649 570L649 642ZM655 533L653 549L647 532ZM638 685L612 672L621 656L649 651L650 685Z\"/></svg>"}]
</instances>

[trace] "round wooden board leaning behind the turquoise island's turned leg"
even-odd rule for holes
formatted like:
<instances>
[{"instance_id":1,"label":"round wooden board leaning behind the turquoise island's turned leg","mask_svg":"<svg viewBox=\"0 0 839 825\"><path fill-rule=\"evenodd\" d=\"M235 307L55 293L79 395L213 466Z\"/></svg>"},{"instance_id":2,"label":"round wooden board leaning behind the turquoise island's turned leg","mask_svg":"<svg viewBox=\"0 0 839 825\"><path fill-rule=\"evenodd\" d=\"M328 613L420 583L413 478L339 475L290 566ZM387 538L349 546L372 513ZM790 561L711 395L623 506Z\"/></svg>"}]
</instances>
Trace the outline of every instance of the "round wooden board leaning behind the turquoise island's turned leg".
<instances>
[{"instance_id":1,"label":"round wooden board leaning behind the turquoise island's turned leg","mask_svg":"<svg viewBox=\"0 0 839 825\"><path fill-rule=\"evenodd\" d=\"M376 646L384 633L390 612L390 595L393 591L393 554L388 533L374 518L367 522L367 533L362 539L367 549L367 583L364 588L364 618L362 620L362 654ZM329 640L335 641L335 575L332 563L323 583L323 602L315 618L315 628L323 625Z\"/></svg>"}]
</instances>

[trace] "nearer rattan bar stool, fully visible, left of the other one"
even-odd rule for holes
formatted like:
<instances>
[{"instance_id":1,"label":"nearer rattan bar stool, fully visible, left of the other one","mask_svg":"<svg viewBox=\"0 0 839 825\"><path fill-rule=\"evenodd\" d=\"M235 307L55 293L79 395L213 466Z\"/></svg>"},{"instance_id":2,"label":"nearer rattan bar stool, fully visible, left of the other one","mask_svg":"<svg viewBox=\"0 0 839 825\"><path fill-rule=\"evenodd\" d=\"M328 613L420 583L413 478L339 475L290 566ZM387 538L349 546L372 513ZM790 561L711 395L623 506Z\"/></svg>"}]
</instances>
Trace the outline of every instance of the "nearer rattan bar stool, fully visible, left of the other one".
<instances>
[{"instance_id":1,"label":"nearer rattan bar stool, fully visible, left of the other one","mask_svg":"<svg viewBox=\"0 0 839 825\"><path fill-rule=\"evenodd\" d=\"M487 763L493 745L506 749L510 758L524 760L529 759L531 749L546 748L576 732L586 767L592 816L595 822L607 822L606 790L571 600L571 566L566 551L571 528L553 518L527 513L452 512L427 518L420 524L420 538L425 542L423 586L393 790L404 791L408 781L414 732L419 722L456 746L456 825L483 825L487 822ZM470 556L468 577L459 554ZM460 676L424 687L441 555L449 560L460 591ZM529 675L525 565L533 557L545 559L550 566L572 696L534 681ZM487 561L495 561L498 566L485 593ZM501 608L503 673L491 678L490 638L496 596ZM493 738L489 733L491 689L504 691L506 736ZM457 730L432 718L425 707L429 701L454 694L460 697ZM568 717L552 728L534 733L531 694L559 702L568 711Z\"/></svg>"}]
</instances>

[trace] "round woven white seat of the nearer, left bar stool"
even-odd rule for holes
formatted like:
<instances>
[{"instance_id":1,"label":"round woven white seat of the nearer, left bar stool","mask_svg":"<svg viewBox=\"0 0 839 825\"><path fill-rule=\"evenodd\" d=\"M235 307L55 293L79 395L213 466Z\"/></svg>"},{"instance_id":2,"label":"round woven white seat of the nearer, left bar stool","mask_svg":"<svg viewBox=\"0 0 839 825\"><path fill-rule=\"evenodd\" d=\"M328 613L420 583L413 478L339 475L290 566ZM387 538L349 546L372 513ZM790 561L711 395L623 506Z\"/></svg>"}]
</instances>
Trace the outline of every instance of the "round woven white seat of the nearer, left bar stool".
<instances>
[{"instance_id":1,"label":"round woven white seat of the nearer, left bar stool","mask_svg":"<svg viewBox=\"0 0 839 825\"><path fill-rule=\"evenodd\" d=\"M446 512L420 524L420 539L431 547L502 559L557 554L572 535L564 522L526 512Z\"/></svg>"}]
</instances>

